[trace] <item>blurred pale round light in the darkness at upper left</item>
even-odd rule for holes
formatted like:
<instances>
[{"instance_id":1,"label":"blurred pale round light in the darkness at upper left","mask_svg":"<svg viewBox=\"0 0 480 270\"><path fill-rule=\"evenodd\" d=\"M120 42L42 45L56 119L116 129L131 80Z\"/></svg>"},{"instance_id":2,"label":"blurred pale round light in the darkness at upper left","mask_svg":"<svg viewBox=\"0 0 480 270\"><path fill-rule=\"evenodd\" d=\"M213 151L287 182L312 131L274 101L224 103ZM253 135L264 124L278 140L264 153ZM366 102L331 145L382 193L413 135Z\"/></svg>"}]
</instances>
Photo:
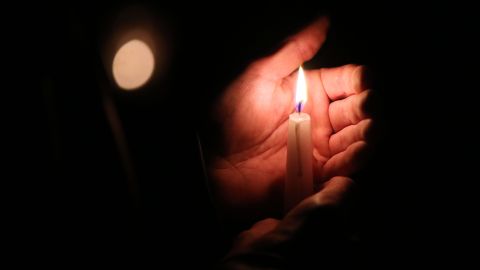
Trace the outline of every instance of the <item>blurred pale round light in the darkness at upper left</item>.
<instances>
[{"instance_id":1,"label":"blurred pale round light in the darkness at upper left","mask_svg":"<svg viewBox=\"0 0 480 270\"><path fill-rule=\"evenodd\" d=\"M143 86L152 76L155 59L145 42L133 39L118 49L113 58L112 71L115 82L125 90Z\"/></svg>"}]
</instances>

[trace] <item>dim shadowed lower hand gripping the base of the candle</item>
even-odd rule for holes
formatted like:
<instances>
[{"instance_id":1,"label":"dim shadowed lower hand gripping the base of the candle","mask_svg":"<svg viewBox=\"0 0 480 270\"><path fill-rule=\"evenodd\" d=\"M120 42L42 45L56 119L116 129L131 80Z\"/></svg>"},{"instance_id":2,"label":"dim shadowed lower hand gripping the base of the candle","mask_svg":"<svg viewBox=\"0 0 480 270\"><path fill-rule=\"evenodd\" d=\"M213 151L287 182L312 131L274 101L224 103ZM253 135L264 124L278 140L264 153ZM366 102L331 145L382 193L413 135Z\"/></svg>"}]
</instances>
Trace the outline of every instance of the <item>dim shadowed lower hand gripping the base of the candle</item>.
<instances>
[{"instance_id":1,"label":"dim shadowed lower hand gripping the base of the candle","mask_svg":"<svg viewBox=\"0 0 480 270\"><path fill-rule=\"evenodd\" d=\"M349 262L354 266L343 211L352 187L350 178L334 177L283 220L257 222L239 234L221 269L312 269L313 265L343 269Z\"/></svg>"}]
</instances>

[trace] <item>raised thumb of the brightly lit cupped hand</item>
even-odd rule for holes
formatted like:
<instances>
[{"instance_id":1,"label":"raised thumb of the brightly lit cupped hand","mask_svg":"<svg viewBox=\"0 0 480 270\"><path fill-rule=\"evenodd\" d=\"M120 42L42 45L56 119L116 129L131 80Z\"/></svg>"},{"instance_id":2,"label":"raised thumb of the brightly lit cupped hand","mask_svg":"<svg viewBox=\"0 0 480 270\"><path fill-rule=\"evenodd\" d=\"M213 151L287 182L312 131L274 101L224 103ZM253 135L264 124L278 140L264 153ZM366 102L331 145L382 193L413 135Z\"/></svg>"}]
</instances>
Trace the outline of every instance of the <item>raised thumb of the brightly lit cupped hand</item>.
<instances>
[{"instance_id":1,"label":"raised thumb of the brightly lit cupped hand","mask_svg":"<svg viewBox=\"0 0 480 270\"><path fill-rule=\"evenodd\" d=\"M316 20L290 37L275 54L258 60L256 67L263 74L271 74L274 79L288 76L317 53L325 41L328 26L328 18Z\"/></svg>"}]
</instances>

